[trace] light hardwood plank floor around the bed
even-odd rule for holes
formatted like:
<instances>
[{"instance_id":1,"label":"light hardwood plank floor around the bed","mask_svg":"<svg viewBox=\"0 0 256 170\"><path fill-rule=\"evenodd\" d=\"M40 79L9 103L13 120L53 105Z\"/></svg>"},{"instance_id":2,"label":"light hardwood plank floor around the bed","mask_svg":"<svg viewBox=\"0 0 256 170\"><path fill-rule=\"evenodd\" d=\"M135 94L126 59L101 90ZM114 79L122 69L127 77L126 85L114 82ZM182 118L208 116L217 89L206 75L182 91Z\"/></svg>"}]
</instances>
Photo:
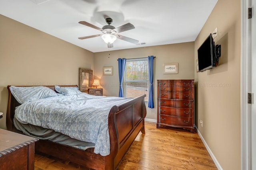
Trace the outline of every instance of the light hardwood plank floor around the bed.
<instances>
[{"instance_id":1,"label":"light hardwood plank floor around the bed","mask_svg":"<svg viewBox=\"0 0 256 170\"><path fill-rule=\"evenodd\" d=\"M118 170L218 170L197 133L146 122ZM35 170L88 170L57 158L35 155Z\"/></svg>"}]
</instances>

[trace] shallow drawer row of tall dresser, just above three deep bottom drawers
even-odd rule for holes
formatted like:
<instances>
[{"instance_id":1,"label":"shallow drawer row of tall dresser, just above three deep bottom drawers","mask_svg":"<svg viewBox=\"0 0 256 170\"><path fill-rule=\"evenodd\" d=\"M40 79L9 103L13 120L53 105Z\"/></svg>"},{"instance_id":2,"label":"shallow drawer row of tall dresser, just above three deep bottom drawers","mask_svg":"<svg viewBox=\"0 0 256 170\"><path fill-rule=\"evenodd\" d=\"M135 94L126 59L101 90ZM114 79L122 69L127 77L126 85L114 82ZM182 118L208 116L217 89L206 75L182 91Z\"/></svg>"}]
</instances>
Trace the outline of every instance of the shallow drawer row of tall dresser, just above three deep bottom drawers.
<instances>
[{"instance_id":1,"label":"shallow drawer row of tall dresser, just above three deep bottom drawers","mask_svg":"<svg viewBox=\"0 0 256 170\"><path fill-rule=\"evenodd\" d=\"M173 93L170 93L170 92L160 91L159 92L159 98L190 100L191 99L191 93L188 93L188 92L173 92Z\"/></svg>"}]
</instances>

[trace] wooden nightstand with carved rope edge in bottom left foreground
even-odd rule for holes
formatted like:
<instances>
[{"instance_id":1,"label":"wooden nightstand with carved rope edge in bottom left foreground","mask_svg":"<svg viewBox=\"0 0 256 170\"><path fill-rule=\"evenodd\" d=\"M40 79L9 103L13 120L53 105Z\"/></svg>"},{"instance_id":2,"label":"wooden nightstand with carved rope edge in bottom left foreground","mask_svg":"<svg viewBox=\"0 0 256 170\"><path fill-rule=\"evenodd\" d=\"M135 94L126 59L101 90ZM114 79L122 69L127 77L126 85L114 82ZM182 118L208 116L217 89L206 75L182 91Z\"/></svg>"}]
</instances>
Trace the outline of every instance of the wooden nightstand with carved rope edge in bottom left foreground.
<instances>
[{"instance_id":1,"label":"wooden nightstand with carved rope edge in bottom left foreground","mask_svg":"<svg viewBox=\"0 0 256 170\"><path fill-rule=\"evenodd\" d=\"M34 170L38 139L0 129L0 170Z\"/></svg>"}]
</instances>

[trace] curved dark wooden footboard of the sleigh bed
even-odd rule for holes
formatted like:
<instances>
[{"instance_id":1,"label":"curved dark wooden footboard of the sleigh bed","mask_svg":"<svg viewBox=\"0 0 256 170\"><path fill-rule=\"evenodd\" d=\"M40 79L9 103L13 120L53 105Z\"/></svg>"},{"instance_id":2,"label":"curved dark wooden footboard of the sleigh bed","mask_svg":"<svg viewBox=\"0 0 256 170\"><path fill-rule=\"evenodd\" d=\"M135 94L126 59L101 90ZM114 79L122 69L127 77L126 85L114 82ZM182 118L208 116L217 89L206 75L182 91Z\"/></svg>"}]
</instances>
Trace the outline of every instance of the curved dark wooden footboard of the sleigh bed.
<instances>
[{"instance_id":1,"label":"curved dark wooden footboard of the sleigh bed","mask_svg":"<svg viewBox=\"0 0 256 170\"><path fill-rule=\"evenodd\" d=\"M145 134L145 96L140 96L121 105L114 106L110 110L108 116L110 156L114 158L113 164L115 169L122 161L138 133L141 131Z\"/></svg>"}]
</instances>

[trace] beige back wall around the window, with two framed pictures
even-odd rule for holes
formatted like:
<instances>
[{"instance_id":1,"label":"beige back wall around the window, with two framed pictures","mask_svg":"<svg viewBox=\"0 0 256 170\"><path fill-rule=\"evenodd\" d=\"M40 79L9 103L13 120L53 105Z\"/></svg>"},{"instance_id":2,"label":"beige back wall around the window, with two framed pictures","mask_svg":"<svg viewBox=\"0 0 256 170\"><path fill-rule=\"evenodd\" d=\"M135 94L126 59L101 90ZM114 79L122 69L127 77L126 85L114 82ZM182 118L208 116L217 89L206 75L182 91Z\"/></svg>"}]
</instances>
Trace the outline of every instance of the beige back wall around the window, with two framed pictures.
<instances>
[{"instance_id":1,"label":"beige back wall around the window, with two framed pictures","mask_svg":"<svg viewBox=\"0 0 256 170\"><path fill-rule=\"evenodd\" d=\"M157 119L157 80L194 79L194 42L108 51L94 54L94 78L99 78L103 95L118 96L118 58L142 58L154 55L154 106L147 108L148 119ZM164 63L178 63L178 74L163 74ZM104 66L113 66L113 76L102 75ZM146 104L146 106L148 106Z\"/></svg>"}]
</instances>

